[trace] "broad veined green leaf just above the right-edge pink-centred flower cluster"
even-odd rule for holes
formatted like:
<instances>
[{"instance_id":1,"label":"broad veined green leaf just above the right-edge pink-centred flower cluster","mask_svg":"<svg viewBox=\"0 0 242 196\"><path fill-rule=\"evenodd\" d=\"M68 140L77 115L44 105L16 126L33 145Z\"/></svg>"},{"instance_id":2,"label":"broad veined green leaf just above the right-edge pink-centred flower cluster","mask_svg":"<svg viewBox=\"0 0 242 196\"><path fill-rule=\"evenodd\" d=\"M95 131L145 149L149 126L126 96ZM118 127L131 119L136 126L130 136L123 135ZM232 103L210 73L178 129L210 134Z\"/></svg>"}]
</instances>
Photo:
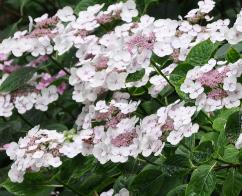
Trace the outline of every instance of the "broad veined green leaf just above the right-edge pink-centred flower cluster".
<instances>
[{"instance_id":1,"label":"broad veined green leaf just above the right-edge pink-centred flower cluster","mask_svg":"<svg viewBox=\"0 0 242 196\"><path fill-rule=\"evenodd\" d=\"M205 40L194 46L189 52L186 62L192 66L204 65L212 57L219 43L213 43L210 40Z\"/></svg>"}]
</instances>

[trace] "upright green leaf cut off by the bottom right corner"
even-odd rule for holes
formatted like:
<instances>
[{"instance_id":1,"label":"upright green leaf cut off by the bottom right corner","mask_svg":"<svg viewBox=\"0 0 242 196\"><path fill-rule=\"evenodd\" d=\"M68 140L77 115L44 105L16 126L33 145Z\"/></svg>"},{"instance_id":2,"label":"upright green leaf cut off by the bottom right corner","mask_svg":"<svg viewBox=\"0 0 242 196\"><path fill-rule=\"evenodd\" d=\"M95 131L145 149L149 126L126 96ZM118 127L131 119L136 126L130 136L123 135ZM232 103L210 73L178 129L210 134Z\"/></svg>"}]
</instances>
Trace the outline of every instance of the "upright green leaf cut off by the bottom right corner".
<instances>
[{"instance_id":1,"label":"upright green leaf cut off by the bottom right corner","mask_svg":"<svg viewBox=\"0 0 242 196\"><path fill-rule=\"evenodd\" d=\"M231 168L223 184L224 196L239 196L242 189L242 174L239 170Z\"/></svg>"}]
</instances>

